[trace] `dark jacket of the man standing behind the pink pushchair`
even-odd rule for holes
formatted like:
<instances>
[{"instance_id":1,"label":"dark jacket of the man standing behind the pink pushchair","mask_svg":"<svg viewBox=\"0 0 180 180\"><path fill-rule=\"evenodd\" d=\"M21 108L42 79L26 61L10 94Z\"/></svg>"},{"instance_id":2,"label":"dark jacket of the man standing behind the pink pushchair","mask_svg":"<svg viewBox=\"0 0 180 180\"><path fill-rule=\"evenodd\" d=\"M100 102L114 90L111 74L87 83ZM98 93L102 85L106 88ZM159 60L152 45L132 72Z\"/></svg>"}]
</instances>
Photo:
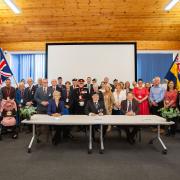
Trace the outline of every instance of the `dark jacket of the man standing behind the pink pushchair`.
<instances>
[{"instance_id":1,"label":"dark jacket of the man standing behind the pink pushchair","mask_svg":"<svg viewBox=\"0 0 180 180\"><path fill-rule=\"evenodd\" d=\"M6 86L1 88L0 91L0 100L7 99L9 96L10 99L15 99L16 96L16 90L14 87L11 86L10 89L8 89Z\"/></svg>"}]
</instances>

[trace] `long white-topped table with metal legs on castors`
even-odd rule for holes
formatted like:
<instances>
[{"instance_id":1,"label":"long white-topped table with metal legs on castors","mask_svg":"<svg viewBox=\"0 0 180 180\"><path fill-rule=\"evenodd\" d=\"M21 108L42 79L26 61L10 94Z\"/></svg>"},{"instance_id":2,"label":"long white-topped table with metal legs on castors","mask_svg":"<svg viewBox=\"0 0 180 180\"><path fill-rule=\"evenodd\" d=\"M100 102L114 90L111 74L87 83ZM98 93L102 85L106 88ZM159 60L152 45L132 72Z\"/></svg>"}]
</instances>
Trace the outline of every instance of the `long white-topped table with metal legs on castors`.
<instances>
[{"instance_id":1,"label":"long white-topped table with metal legs on castors","mask_svg":"<svg viewBox=\"0 0 180 180\"><path fill-rule=\"evenodd\" d=\"M53 117L44 114L36 114L31 120L23 120L22 123L32 124L32 138L28 146L28 153L31 152L32 144L36 137L36 125L87 125L89 126L89 147L88 153L92 153L92 126L100 125L100 153L104 153L103 142L103 125L119 125L119 126L157 126L157 136L150 140L152 144L154 140L158 140L163 147L162 153L167 154L167 147L160 136L160 126L169 126L174 122L167 122L166 119L155 115L104 115L104 116L87 116L87 115L63 115Z\"/></svg>"}]
</instances>

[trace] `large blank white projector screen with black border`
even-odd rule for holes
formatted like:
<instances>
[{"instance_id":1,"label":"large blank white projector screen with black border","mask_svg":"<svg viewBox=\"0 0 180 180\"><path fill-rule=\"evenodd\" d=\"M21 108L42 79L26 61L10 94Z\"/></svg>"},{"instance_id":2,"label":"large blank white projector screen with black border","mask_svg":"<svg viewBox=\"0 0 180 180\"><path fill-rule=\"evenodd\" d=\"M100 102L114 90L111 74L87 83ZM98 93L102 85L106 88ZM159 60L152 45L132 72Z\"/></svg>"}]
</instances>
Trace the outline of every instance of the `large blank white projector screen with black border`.
<instances>
[{"instance_id":1,"label":"large blank white projector screen with black border","mask_svg":"<svg viewBox=\"0 0 180 180\"><path fill-rule=\"evenodd\" d=\"M47 77L136 79L136 43L46 44Z\"/></svg>"}]
</instances>

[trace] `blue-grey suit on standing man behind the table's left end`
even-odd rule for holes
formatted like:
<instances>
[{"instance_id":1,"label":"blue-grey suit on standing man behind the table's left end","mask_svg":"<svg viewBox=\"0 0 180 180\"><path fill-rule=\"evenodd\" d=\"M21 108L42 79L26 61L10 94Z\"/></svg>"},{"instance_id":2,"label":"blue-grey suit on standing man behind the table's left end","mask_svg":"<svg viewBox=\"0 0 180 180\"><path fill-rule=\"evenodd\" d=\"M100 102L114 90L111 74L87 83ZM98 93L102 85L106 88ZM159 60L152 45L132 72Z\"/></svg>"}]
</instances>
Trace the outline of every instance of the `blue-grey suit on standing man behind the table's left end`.
<instances>
[{"instance_id":1,"label":"blue-grey suit on standing man behind the table's left end","mask_svg":"<svg viewBox=\"0 0 180 180\"><path fill-rule=\"evenodd\" d=\"M48 87L47 88L47 93L43 91L43 87L39 87L34 95L34 99L37 102L37 111L38 113L47 113L47 107L48 106L43 106L41 104L42 101L49 101L52 99L52 88Z\"/></svg>"}]
</instances>

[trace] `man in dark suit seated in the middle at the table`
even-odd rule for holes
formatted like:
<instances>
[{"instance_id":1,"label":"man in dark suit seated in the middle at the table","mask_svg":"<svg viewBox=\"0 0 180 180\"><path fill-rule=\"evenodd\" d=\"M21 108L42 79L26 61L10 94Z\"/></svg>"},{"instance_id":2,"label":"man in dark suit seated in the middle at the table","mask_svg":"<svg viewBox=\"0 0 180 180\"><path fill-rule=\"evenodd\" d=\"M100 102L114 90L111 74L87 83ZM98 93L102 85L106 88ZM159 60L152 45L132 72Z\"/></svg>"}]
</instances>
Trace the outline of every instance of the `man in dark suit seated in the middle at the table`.
<instances>
[{"instance_id":1,"label":"man in dark suit seated in the middle at the table","mask_svg":"<svg viewBox=\"0 0 180 180\"><path fill-rule=\"evenodd\" d=\"M106 114L104 102L99 100L98 93L94 92L92 94L92 99L87 102L85 107L85 114L89 116L96 116L96 115L102 116ZM99 125L93 126L92 137L94 141L95 141L95 131L97 131L98 129L99 129ZM103 136L105 135L106 130L107 130L107 126L103 126Z\"/></svg>"}]
</instances>

